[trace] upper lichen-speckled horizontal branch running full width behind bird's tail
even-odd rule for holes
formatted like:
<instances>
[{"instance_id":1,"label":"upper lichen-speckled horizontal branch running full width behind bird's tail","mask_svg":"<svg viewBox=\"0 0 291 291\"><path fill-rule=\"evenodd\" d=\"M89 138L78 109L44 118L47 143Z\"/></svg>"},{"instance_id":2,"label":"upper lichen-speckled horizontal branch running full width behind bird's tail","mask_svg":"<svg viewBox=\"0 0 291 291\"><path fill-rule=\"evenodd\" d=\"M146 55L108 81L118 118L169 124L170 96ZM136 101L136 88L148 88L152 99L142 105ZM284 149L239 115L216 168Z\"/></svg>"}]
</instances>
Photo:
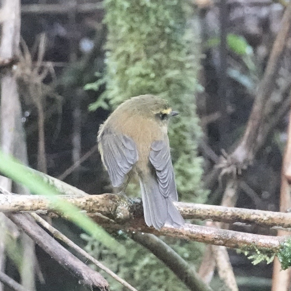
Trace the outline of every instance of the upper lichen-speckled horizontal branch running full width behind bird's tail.
<instances>
[{"instance_id":1,"label":"upper lichen-speckled horizontal branch running full width behind bird's tail","mask_svg":"<svg viewBox=\"0 0 291 291\"><path fill-rule=\"evenodd\" d=\"M110 219L127 220L142 216L140 199L131 200L114 194L87 195L75 188L73 195L60 196L87 213L100 213ZM280 226L291 228L291 213L264 210L224 207L216 205L175 202L185 219L211 219L226 223L244 222L262 226ZM40 195L4 195L0 194L0 212L40 212L56 213L49 198Z\"/></svg>"}]
</instances>

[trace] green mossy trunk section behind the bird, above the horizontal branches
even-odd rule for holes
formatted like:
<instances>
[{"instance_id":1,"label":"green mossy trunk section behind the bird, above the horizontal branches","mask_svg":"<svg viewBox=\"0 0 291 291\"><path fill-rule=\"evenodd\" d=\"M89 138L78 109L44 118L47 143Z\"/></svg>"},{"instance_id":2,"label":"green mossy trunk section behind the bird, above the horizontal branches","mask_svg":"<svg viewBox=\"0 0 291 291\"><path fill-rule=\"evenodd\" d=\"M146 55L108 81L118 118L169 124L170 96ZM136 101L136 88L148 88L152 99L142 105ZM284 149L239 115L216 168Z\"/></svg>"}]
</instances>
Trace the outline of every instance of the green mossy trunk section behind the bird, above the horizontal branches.
<instances>
[{"instance_id":1,"label":"green mossy trunk section behind the bird, above the horizontal branches","mask_svg":"<svg viewBox=\"0 0 291 291\"><path fill-rule=\"evenodd\" d=\"M116 107L141 94L169 100L180 115L169 126L177 189L181 199L204 203L201 159L197 138L201 135L196 116L195 92L199 69L199 45L187 22L189 7L183 0L105 0L107 24L106 72L87 88L106 91L91 109L109 103Z\"/></svg>"}]
</instances>

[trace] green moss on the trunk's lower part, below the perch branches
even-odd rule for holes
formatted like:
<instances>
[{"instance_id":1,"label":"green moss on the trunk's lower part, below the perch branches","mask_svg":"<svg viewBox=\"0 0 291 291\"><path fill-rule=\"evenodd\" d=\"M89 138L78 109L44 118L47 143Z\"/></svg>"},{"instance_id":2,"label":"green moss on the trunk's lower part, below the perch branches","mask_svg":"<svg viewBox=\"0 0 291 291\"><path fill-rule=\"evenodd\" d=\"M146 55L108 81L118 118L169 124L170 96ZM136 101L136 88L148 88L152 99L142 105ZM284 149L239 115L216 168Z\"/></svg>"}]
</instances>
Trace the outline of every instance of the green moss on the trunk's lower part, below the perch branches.
<instances>
[{"instance_id":1,"label":"green moss on the trunk's lower part, below the perch branches","mask_svg":"<svg viewBox=\"0 0 291 291\"><path fill-rule=\"evenodd\" d=\"M184 291L185 285L158 260L155 255L147 249L136 244L127 235L120 232L121 243L128 250L126 260L116 260L116 255L100 247L100 243L88 235L82 235L82 238L88 242L86 251L91 253L95 258L101 260L111 270L133 285L137 290L146 291ZM201 243L197 243L201 244ZM184 259L189 262L190 266L200 258L201 253L197 252L197 244L185 243L181 245L176 242L173 249ZM202 245L202 244L201 244ZM91 267L96 268L95 265ZM98 270L99 271L99 270ZM101 272L109 282L110 290L122 290L122 286L113 278Z\"/></svg>"}]
</instances>

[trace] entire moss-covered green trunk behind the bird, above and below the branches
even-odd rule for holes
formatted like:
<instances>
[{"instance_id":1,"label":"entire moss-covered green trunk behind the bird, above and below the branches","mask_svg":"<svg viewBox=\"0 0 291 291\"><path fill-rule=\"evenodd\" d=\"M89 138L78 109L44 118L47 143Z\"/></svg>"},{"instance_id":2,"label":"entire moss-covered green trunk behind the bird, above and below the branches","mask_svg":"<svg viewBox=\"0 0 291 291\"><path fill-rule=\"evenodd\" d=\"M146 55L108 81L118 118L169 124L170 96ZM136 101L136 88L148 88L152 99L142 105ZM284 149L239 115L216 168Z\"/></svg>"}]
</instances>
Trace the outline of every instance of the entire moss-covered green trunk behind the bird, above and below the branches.
<instances>
[{"instance_id":1,"label":"entire moss-covered green trunk behind the bird, above and below the branches","mask_svg":"<svg viewBox=\"0 0 291 291\"><path fill-rule=\"evenodd\" d=\"M187 22L189 7L183 0L104 0L107 24L106 72L87 88L106 90L90 109L115 108L130 97L153 94L165 98L179 111L169 125L169 138L180 200L204 203L207 191L201 187L202 160L197 157L197 139L201 135L196 116L195 92L199 69L198 35ZM192 32L191 32L192 31ZM98 76L97 76L98 77ZM133 185L127 194L137 192ZM177 239L165 239L182 258L194 266L204 245ZM123 241L126 258L116 257L99 245L92 246L95 257L110 266L138 290L185 290L185 286L155 256L131 239ZM146 278L146 279L145 279ZM121 290L111 280L111 290Z\"/></svg>"}]
</instances>

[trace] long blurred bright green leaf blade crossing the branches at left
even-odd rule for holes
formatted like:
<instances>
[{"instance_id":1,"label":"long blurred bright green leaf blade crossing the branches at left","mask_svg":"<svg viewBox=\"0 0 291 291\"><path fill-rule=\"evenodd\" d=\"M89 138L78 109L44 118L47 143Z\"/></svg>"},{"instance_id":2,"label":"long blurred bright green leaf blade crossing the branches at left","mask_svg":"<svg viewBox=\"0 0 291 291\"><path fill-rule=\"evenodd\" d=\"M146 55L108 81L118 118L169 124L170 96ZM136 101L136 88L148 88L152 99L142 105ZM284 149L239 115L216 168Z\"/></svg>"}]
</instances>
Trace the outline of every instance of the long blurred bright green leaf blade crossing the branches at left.
<instances>
[{"instance_id":1,"label":"long blurred bright green leaf blade crossing the branches at left","mask_svg":"<svg viewBox=\"0 0 291 291\"><path fill-rule=\"evenodd\" d=\"M39 175L20 164L15 158L4 154L2 151L0 151L0 172L15 182L23 184L32 193L46 196L52 203L52 206L56 210L61 211L67 219L102 242L102 244L114 253L122 256L125 255L126 250L123 245L119 244L101 226L87 217L86 214L80 212L78 207L58 197L60 193L54 186L44 182Z\"/></svg>"}]
</instances>

